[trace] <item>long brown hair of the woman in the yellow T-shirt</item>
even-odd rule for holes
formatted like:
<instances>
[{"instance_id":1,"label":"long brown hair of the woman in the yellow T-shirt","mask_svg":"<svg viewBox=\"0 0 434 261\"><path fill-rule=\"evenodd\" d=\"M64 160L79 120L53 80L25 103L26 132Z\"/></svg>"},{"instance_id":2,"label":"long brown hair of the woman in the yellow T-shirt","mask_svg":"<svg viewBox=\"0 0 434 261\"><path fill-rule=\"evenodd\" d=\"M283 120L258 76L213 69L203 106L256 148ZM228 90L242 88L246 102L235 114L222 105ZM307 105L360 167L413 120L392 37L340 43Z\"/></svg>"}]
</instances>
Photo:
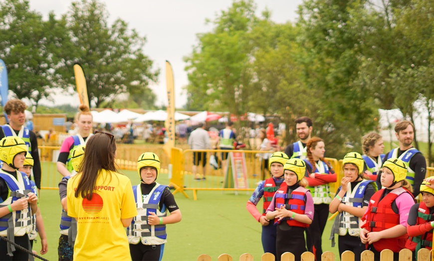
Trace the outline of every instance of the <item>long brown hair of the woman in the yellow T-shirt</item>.
<instances>
[{"instance_id":1,"label":"long brown hair of the woman in the yellow T-shirt","mask_svg":"<svg viewBox=\"0 0 434 261\"><path fill-rule=\"evenodd\" d=\"M116 141L104 133L96 133L89 138L81 163L81 177L75 197L92 199L98 173L101 169L117 172L115 167Z\"/></svg>"}]
</instances>

